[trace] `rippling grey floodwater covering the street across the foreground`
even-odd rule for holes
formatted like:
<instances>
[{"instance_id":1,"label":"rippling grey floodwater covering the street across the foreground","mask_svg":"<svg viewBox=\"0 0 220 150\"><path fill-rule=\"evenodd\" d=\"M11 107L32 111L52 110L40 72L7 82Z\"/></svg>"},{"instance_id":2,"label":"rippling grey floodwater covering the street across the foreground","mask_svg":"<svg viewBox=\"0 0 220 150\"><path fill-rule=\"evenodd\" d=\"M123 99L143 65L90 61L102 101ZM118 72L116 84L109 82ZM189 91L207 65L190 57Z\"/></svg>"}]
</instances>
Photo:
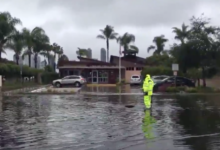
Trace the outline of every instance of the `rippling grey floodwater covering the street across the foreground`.
<instances>
[{"instance_id":1,"label":"rippling grey floodwater covering the street across the foreground","mask_svg":"<svg viewBox=\"0 0 220 150\"><path fill-rule=\"evenodd\" d=\"M218 150L219 97L154 96L151 112L140 95L4 97L0 149Z\"/></svg>"}]
</instances>

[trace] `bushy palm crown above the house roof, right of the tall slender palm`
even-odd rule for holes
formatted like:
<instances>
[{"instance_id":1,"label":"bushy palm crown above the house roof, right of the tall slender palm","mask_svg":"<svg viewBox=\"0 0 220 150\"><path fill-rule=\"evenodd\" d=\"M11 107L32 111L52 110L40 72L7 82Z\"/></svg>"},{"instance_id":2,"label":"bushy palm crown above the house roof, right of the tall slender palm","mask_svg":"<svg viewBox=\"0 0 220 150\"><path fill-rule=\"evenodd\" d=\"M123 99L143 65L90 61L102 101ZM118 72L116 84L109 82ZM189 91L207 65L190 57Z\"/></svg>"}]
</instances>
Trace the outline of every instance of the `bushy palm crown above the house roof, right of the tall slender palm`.
<instances>
[{"instance_id":1,"label":"bushy palm crown above the house roof, right of the tall slender palm","mask_svg":"<svg viewBox=\"0 0 220 150\"><path fill-rule=\"evenodd\" d=\"M122 37L118 37L118 43L124 48L124 55L136 55L139 52L138 47L131 45L135 42L135 36L133 34L125 33Z\"/></svg>"}]
</instances>

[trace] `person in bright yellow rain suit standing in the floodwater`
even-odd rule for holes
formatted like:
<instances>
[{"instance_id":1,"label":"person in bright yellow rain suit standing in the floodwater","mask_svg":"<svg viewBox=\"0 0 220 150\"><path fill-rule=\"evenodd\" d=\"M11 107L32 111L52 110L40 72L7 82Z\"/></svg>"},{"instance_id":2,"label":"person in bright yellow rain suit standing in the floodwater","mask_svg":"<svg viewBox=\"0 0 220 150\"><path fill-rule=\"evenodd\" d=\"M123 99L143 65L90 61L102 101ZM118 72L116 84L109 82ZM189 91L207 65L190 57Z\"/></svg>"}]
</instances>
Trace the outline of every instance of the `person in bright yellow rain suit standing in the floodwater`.
<instances>
[{"instance_id":1,"label":"person in bright yellow rain suit standing in the floodwater","mask_svg":"<svg viewBox=\"0 0 220 150\"><path fill-rule=\"evenodd\" d=\"M154 81L151 79L150 75L147 74L143 84L144 91L144 104L146 109L151 108L151 96L153 94Z\"/></svg>"}]
</instances>

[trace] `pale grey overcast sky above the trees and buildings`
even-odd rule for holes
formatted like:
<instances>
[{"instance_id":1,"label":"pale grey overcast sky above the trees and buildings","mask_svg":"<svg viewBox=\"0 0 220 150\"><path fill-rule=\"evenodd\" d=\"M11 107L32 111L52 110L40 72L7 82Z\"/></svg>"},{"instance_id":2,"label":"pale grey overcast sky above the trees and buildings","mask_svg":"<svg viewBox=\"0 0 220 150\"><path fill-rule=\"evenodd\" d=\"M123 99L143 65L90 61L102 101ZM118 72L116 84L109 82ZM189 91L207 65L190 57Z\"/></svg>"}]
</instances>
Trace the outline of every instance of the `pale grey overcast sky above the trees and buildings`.
<instances>
[{"instance_id":1,"label":"pale grey overcast sky above the trees and buildings","mask_svg":"<svg viewBox=\"0 0 220 150\"><path fill-rule=\"evenodd\" d=\"M70 59L76 60L77 47L91 48L93 58L100 59L106 42L97 39L106 25L120 35L136 36L139 56L147 57L147 47L155 36L164 34L174 42L172 27L188 23L191 16L212 18L220 25L220 0L0 0L0 10L9 11L23 22L23 27L44 28L51 43L61 45ZM110 55L118 55L116 41L110 42ZM12 52L3 55L12 59Z\"/></svg>"}]
</instances>

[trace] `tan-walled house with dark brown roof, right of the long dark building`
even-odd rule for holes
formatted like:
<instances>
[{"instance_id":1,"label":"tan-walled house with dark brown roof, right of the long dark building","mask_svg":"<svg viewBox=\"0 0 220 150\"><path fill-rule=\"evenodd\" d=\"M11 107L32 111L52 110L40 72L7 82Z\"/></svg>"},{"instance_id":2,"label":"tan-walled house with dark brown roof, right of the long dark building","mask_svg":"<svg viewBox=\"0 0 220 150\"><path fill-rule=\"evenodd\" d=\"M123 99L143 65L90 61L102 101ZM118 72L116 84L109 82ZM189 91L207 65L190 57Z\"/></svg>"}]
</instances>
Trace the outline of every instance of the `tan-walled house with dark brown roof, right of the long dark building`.
<instances>
[{"instance_id":1,"label":"tan-walled house with dark brown roof, right of the long dark building","mask_svg":"<svg viewBox=\"0 0 220 150\"><path fill-rule=\"evenodd\" d=\"M141 75L141 71L145 66L145 61L146 61L145 58L141 58L134 55L121 57L121 65L126 68L125 70L126 82L130 82L132 75ZM119 57L111 56L110 63L119 65Z\"/></svg>"}]
</instances>

